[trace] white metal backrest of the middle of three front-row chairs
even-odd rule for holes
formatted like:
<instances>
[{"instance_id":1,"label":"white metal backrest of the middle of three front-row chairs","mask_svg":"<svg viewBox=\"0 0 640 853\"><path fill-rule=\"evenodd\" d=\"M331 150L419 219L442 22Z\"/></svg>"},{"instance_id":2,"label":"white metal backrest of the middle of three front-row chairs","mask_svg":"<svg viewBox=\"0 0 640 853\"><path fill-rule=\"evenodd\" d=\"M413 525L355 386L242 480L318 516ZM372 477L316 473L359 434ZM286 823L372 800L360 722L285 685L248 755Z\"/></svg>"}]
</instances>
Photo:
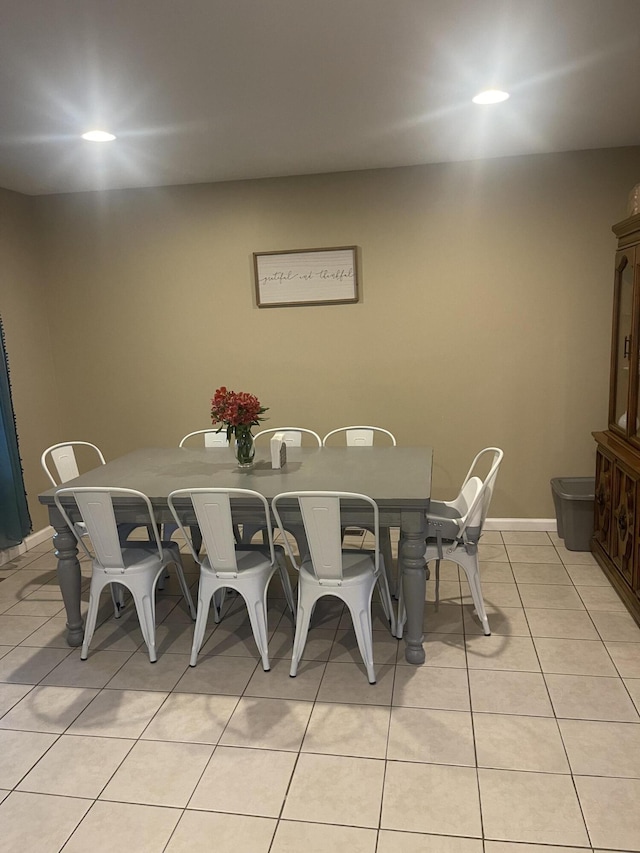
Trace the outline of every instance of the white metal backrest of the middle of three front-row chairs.
<instances>
[{"instance_id":1,"label":"white metal backrest of the middle of three front-row chairs","mask_svg":"<svg viewBox=\"0 0 640 853\"><path fill-rule=\"evenodd\" d=\"M189 530L195 514L209 563L218 577L235 577L238 573L232 514L234 498L245 502L250 500L260 505L259 521L261 529L267 531L269 552L273 562L275 552L269 504L259 492L251 489L176 489L167 498L169 509L187 541L194 560L202 564L203 558L194 548ZM188 500L186 505L184 499ZM237 551L242 551L242 547Z\"/></svg>"}]
</instances>

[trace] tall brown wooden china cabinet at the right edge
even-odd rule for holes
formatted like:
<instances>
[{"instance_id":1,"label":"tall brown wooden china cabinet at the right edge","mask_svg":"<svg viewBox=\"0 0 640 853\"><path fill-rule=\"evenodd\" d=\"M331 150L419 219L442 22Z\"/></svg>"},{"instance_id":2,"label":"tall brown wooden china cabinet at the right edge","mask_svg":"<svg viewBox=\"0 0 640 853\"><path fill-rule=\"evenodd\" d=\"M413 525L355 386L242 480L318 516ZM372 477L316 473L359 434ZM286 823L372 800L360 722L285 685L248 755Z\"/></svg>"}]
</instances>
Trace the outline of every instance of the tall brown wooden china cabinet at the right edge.
<instances>
[{"instance_id":1,"label":"tall brown wooden china cabinet at the right edge","mask_svg":"<svg viewBox=\"0 0 640 853\"><path fill-rule=\"evenodd\" d=\"M640 624L640 215L619 222L613 231L618 251L609 426L594 433L598 447L592 549Z\"/></svg>"}]
</instances>

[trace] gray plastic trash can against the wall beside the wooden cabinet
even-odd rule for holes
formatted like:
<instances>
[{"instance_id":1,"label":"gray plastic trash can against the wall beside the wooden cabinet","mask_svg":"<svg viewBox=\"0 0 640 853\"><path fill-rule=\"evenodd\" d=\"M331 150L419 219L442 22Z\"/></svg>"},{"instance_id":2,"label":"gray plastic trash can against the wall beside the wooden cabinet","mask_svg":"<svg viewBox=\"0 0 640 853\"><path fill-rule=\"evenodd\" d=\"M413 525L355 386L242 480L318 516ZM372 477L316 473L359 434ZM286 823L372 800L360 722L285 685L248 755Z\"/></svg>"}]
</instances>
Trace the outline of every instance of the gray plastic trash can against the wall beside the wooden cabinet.
<instances>
[{"instance_id":1,"label":"gray plastic trash can against the wall beside the wooden cabinet","mask_svg":"<svg viewBox=\"0 0 640 853\"><path fill-rule=\"evenodd\" d=\"M551 492L558 536L569 551L590 551L593 536L595 477L554 477Z\"/></svg>"}]
</instances>

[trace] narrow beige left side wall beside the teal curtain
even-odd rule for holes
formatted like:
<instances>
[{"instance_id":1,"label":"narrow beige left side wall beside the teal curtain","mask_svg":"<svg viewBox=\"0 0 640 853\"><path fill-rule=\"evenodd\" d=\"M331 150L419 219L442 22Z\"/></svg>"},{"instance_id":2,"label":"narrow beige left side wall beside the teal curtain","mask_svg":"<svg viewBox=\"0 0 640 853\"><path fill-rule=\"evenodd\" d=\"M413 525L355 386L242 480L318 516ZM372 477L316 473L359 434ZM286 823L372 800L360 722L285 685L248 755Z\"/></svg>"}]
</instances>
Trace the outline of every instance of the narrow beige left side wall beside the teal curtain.
<instances>
[{"instance_id":1,"label":"narrow beige left side wall beside the teal curtain","mask_svg":"<svg viewBox=\"0 0 640 853\"><path fill-rule=\"evenodd\" d=\"M5 329L20 455L34 530L47 524L40 454L60 431L46 279L34 223L37 199L0 189L0 314Z\"/></svg>"}]
</instances>

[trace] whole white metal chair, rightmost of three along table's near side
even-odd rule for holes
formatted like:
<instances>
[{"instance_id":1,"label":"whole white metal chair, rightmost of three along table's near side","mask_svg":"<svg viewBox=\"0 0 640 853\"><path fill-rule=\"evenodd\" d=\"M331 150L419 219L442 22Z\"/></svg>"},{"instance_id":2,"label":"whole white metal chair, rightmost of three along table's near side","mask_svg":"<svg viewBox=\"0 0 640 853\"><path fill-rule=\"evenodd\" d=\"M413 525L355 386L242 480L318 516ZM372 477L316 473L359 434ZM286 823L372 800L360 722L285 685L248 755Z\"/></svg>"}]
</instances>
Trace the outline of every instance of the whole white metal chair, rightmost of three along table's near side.
<instances>
[{"instance_id":1,"label":"whole white metal chair, rightmost of three along table's near side","mask_svg":"<svg viewBox=\"0 0 640 853\"><path fill-rule=\"evenodd\" d=\"M371 510L375 546L373 551L345 550L342 548L341 509L345 502ZM289 507L286 506L289 504ZM281 513L297 504L302 516L309 554L297 559L285 539L290 560L298 570L298 615L293 641L290 675L295 676L309 631L311 615L318 599L333 595L345 602L351 613L358 648L362 655L367 677L375 684L373 664L373 632L371 624L371 598L376 584L380 590L382 607L395 634L395 618L384 571L384 557L380 553L378 506L372 498L353 492L283 492L271 502L273 514L281 530Z\"/></svg>"}]
</instances>

